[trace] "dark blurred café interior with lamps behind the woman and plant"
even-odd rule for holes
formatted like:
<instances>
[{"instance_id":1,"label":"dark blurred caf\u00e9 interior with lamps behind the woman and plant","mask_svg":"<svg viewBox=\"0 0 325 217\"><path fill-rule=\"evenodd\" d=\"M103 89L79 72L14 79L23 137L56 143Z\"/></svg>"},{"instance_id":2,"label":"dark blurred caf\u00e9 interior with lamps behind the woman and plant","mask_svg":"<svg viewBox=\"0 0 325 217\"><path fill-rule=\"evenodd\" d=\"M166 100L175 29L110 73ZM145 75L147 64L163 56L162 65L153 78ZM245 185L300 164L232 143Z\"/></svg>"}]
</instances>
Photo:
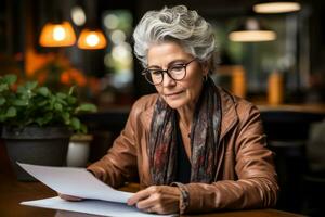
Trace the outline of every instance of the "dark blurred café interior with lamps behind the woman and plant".
<instances>
[{"instance_id":1,"label":"dark blurred caf\u00e9 interior with lamps behind the woman and plant","mask_svg":"<svg viewBox=\"0 0 325 217\"><path fill-rule=\"evenodd\" d=\"M76 86L78 100L99 108L80 115L93 136L87 162L94 162L122 129L132 103L155 91L132 52L134 25L147 10L185 4L216 30L216 84L261 111L281 186L276 209L321 216L325 1L286 2L294 8L268 11L263 0L3 0L0 76L16 74L18 80L37 80L60 91ZM4 176L10 165L2 164L6 154L3 142L0 146Z\"/></svg>"}]
</instances>

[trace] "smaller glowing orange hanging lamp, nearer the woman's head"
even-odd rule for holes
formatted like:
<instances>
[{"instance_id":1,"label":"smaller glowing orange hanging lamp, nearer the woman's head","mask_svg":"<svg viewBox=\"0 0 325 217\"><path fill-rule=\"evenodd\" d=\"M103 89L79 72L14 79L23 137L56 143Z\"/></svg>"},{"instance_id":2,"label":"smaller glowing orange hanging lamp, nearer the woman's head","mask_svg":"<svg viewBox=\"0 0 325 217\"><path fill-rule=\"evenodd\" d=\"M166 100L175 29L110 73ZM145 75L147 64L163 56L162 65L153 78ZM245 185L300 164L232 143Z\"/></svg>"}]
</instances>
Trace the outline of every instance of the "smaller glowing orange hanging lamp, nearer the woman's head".
<instances>
[{"instance_id":1,"label":"smaller glowing orange hanging lamp, nearer the woman's head","mask_svg":"<svg viewBox=\"0 0 325 217\"><path fill-rule=\"evenodd\" d=\"M83 29L78 39L78 47L86 50L103 49L106 44L106 38L99 29Z\"/></svg>"}]
</instances>

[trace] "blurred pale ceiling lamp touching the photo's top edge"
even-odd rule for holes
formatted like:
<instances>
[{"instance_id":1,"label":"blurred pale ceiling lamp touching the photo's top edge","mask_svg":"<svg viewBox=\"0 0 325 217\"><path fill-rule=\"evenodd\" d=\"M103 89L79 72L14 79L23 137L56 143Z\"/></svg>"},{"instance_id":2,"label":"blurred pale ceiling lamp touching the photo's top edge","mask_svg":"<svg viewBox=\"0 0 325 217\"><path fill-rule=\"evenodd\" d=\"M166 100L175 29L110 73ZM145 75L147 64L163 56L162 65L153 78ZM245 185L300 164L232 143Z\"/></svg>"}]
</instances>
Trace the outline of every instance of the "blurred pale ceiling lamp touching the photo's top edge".
<instances>
[{"instance_id":1,"label":"blurred pale ceiling lamp touching the photo's top edge","mask_svg":"<svg viewBox=\"0 0 325 217\"><path fill-rule=\"evenodd\" d=\"M264 2L252 7L256 13L288 13L299 11L300 9L300 3L294 1Z\"/></svg>"}]
</instances>

